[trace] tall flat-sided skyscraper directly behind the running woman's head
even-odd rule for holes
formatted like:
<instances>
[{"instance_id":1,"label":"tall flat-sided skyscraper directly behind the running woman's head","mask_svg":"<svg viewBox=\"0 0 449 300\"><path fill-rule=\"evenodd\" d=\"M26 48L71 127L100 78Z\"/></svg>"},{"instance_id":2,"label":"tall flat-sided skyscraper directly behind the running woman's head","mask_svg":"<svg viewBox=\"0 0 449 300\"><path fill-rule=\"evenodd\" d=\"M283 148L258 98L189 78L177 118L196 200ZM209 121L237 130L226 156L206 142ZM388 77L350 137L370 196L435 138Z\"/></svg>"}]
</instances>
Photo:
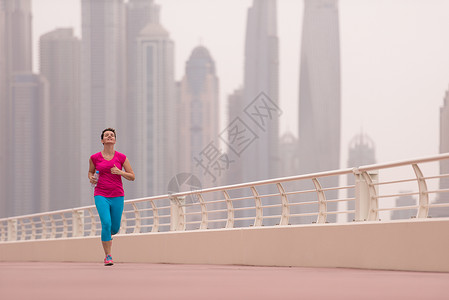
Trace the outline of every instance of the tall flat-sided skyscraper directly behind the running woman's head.
<instances>
[{"instance_id":1,"label":"tall flat-sided skyscraper directly behind the running woman's head","mask_svg":"<svg viewBox=\"0 0 449 300\"><path fill-rule=\"evenodd\" d=\"M123 0L82 0L81 169L101 150L100 134L117 130L117 150L125 128L125 8ZM123 130L125 132L125 130ZM125 135L125 134L124 134ZM86 179L87 181L87 179ZM82 184L82 201L91 203L90 185Z\"/></svg>"}]
</instances>

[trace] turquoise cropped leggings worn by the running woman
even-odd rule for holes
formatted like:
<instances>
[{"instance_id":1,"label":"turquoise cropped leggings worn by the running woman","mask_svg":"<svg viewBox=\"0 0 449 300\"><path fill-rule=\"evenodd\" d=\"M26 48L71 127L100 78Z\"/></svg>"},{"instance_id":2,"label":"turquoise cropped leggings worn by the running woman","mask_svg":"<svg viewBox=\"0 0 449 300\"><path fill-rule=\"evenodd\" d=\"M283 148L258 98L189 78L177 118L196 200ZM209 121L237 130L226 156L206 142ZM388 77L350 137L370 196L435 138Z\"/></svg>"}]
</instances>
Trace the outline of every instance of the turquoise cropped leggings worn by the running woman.
<instances>
[{"instance_id":1,"label":"turquoise cropped leggings worn by the running woman","mask_svg":"<svg viewBox=\"0 0 449 300\"><path fill-rule=\"evenodd\" d=\"M120 230L125 197L95 196L95 205L101 221L101 240L112 240L112 235Z\"/></svg>"}]
</instances>

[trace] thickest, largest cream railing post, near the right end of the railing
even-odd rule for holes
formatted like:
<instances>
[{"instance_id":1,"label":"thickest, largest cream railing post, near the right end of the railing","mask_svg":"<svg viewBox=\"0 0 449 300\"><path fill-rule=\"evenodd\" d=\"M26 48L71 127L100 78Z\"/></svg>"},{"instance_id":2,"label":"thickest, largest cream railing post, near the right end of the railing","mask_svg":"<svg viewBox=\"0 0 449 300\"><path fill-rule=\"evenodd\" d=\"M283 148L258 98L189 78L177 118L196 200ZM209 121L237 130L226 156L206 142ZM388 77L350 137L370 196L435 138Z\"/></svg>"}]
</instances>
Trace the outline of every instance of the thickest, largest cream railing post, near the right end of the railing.
<instances>
[{"instance_id":1,"label":"thickest, largest cream railing post, near the right end of the railing","mask_svg":"<svg viewBox=\"0 0 449 300\"><path fill-rule=\"evenodd\" d=\"M377 205L375 205L377 204L377 187L372 184L377 183L378 172L365 172L365 176L363 176L359 169L354 168L353 174L355 178L355 221L377 219Z\"/></svg>"}]
</instances>

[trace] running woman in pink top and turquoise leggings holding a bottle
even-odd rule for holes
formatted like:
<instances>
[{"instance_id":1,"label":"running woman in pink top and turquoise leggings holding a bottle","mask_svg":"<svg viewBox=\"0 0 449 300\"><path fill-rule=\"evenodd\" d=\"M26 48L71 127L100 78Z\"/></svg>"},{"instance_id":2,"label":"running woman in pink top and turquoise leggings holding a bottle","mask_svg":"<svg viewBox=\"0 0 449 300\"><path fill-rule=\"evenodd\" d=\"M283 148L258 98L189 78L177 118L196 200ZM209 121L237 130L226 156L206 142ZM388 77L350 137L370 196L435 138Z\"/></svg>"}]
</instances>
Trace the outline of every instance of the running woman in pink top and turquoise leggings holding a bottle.
<instances>
[{"instance_id":1,"label":"running woman in pink top and turquoise leggings holding a bottle","mask_svg":"<svg viewBox=\"0 0 449 300\"><path fill-rule=\"evenodd\" d=\"M104 149L89 159L89 180L96 184L94 191L95 206L101 220L101 243L103 245L105 266L114 264L111 256L112 235L120 230L125 192L122 177L134 181L135 175L126 155L115 151L116 133L106 128L101 133ZM123 170L124 169L124 170ZM99 171L98 181L95 170Z\"/></svg>"}]
</instances>

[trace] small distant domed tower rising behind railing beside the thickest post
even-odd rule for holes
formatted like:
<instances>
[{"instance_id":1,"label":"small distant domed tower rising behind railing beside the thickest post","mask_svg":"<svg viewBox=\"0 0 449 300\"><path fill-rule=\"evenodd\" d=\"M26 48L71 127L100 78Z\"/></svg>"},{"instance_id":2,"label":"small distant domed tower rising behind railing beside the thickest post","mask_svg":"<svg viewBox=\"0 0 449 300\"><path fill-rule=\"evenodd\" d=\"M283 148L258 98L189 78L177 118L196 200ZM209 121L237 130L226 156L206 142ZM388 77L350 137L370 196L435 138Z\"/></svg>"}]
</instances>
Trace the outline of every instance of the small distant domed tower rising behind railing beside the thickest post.
<instances>
[{"instance_id":1,"label":"small distant domed tower rising behind railing beside the thickest post","mask_svg":"<svg viewBox=\"0 0 449 300\"><path fill-rule=\"evenodd\" d=\"M366 134L358 134L352 138L349 143L348 168L357 168L360 166L376 163L374 141ZM354 175L347 177L347 185L354 185ZM348 190L348 198L355 197L355 189ZM348 202L348 210L354 210L355 201ZM354 214L348 214L348 222L354 220Z\"/></svg>"}]
</instances>

